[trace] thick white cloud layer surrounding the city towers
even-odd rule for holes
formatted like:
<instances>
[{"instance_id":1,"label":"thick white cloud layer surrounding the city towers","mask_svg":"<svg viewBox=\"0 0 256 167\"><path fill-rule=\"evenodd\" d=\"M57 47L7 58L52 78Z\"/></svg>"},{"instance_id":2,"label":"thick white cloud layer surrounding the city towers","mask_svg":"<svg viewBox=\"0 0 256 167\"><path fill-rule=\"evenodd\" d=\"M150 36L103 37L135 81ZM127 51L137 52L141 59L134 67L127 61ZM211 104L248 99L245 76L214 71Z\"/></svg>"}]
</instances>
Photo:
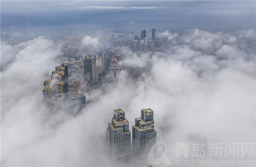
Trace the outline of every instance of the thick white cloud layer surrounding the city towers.
<instances>
[{"instance_id":1,"label":"thick white cloud layer surrounding the city towers","mask_svg":"<svg viewBox=\"0 0 256 167\"><path fill-rule=\"evenodd\" d=\"M252 39L250 31L193 29L172 38L166 31L163 53L123 50L122 65L151 65L151 74L134 82L122 71L115 84L85 93L92 102L76 117L65 109L52 117L41 105L58 47L42 38L2 44L2 55L12 57L1 75L2 166L149 166L147 155L109 157L105 135L116 108L125 111L130 130L141 109L153 109L157 141L167 144L170 160L175 143L255 142L255 50L239 44Z\"/></svg>"}]
</instances>

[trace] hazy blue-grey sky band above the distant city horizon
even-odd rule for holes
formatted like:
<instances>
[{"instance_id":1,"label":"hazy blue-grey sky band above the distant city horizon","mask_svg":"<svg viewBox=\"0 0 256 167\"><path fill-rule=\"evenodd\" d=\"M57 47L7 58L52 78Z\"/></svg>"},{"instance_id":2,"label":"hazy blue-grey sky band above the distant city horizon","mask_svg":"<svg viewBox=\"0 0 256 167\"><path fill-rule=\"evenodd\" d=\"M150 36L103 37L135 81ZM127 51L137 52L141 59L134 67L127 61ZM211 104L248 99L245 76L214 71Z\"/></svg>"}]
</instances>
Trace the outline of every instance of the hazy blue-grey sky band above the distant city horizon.
<instances>
[{"instance_id":1,"label":"hazy blue-grey sky band above the distant city horizon","mask_svg":"<svg viewBox=\"0 0 256 167\"><path fill-rule=\"evenodd\" d=\"M92 30L236 31L256 28L256 1L2 1L1 32Z\"/></svg>"}]
</instances>

